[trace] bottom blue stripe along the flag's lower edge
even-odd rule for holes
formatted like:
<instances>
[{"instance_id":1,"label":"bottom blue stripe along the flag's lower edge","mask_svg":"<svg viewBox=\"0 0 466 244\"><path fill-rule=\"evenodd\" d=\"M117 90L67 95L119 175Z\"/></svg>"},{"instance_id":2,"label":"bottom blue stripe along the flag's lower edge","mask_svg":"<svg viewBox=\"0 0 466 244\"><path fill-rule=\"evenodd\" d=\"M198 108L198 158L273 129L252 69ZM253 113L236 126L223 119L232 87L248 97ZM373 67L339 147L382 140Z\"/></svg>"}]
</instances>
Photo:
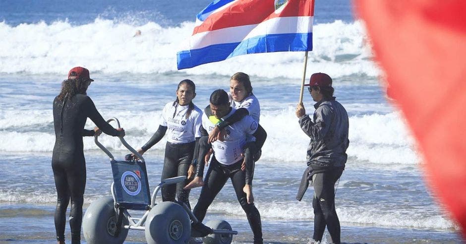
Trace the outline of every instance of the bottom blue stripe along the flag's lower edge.
<instances>
[{"instance_id":1,"label":"bottom blue stripe along the flag's lower edge","mask_svg":"<svg viewBox=\"0 0 466 244\"><path fill-rule=\"evenodd\" d=\"M236 43L211 45L180 51L176 54L178 69L222 61L234 56L287 51L312 51L312 32L257 36Z\"/></svg>"}]
</instances>

